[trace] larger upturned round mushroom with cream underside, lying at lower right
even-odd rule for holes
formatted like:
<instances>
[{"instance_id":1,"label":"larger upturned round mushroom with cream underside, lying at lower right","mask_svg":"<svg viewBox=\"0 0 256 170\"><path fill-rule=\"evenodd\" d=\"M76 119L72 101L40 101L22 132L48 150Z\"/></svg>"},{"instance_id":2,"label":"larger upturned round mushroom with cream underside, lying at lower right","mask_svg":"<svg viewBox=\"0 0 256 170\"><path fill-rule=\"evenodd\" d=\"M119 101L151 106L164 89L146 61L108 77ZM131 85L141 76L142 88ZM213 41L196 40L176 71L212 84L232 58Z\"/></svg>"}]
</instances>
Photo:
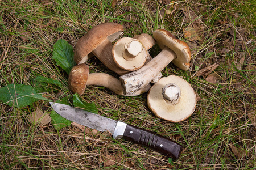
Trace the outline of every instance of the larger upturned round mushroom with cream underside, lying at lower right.
<instances>
[{"instance_id":1,"label":"larger upturned round mushroom with cream underside, lying at lower right","mask_svg":"<svg viewBox=\"0 0 256 170\"><path fill-rule=\"evenodd\" d=\"M196 94L186 80L170 75L161 78L150 88L147 104L155 116L171 122L180 122L195 111Z\"/></svg>"}]
</instances>

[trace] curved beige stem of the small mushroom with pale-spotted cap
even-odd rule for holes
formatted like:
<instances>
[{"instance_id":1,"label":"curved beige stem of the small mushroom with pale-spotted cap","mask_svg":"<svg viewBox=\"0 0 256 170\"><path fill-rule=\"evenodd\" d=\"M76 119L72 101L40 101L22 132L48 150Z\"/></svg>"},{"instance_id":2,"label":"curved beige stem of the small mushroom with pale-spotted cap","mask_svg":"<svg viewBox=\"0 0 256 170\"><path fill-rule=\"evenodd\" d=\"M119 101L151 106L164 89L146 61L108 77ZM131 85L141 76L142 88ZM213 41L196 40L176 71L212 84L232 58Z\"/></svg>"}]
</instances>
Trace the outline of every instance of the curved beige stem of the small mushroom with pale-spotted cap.
<instances>
[{"instance_id":1,"label":"curved beige stem of the small mushroom with pale-spotted cap","mask_svg":"<svg viewBox=\"0 0 256 170\"><path fill-rule=\"evenodd\" d=\"M105 73L90 73L87 80L87 86L97 85L112 90L118 95L123 96L123 90L120 81L112 75Z\"/></svg>"}]
</instances>

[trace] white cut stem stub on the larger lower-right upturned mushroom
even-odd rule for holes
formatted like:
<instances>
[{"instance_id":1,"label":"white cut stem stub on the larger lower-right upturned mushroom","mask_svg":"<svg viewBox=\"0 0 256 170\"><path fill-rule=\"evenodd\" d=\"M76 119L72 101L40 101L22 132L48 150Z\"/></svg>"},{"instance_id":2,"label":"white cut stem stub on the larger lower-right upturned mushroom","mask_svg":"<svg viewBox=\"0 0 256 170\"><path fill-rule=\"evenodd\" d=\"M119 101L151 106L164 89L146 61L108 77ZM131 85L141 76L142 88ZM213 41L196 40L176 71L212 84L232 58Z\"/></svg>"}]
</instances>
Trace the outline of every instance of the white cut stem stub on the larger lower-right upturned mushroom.
<instances>
[{"instance_id":1,"label":"white cut stem stub on the larger lower-right upturned mushroom","mask_svg":"<svg viewBox=\"0 0 256 170\"><path fill-rule=\"evenodd\" d=\"M162 89L162 95L166 103L175 105L179 103L181 95L180 87L175 83L166 84Z\"/></svg>"}]
</instances>

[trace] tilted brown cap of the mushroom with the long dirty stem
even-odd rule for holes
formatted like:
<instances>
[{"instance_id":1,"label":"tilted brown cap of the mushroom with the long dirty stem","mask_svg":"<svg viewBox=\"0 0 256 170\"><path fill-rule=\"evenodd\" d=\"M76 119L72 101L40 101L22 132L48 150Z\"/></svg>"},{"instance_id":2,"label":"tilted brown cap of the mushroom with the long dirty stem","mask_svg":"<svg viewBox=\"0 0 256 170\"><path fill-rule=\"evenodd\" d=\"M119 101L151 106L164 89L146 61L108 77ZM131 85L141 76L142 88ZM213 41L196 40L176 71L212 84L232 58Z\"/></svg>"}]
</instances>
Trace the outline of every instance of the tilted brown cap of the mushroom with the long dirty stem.
<instances>
[{"instance_id":1,"label":"tilted brown cap of the mushroom with the long dirty stem","mask_svg":"<svg viewBox=\"0 0 256 170\"><path fill-rule=\"evenodd\" d=\"M187 43L175 39L171 32L164 29L156 29L153 32L153 37L161 49L164 49L167 46L176 53L177 57L172 63L182 70L189 69L191 51Z\"/></svg>"}]
</instances>

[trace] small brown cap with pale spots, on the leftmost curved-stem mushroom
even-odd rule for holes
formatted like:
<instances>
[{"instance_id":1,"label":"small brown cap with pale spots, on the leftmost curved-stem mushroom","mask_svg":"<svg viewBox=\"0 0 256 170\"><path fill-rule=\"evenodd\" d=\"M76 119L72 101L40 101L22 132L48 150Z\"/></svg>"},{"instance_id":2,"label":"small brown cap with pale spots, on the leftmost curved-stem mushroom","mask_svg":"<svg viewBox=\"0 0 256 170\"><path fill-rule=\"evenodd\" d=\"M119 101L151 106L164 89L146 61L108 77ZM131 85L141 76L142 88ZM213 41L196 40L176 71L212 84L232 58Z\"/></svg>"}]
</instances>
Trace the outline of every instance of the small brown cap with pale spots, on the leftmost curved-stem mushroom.
<instances>
[{"instance_id":1,"label":"small brown cap with pale spots, on the leftmost curved-stem mushroom","mask_svg":"<svg viewBox=\"0 0 256 170\"><path fill-rule=\"evenodd\" d=\"M68 77L68 86L73 94L80 96L84 94L86 83L89 75L89 66L85 63L74 66Z\"/></svg>"}]
</instances>

